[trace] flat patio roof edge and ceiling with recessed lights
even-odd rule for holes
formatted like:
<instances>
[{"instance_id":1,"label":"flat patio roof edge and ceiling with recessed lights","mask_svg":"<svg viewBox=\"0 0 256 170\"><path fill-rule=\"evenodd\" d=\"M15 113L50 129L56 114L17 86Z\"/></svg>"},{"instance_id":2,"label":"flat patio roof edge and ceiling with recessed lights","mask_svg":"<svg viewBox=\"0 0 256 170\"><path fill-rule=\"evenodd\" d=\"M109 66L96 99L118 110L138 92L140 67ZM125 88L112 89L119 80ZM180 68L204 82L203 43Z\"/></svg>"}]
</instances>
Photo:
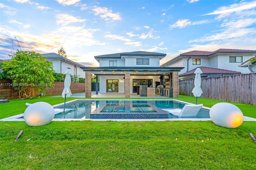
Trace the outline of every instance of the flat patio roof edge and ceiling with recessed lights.
<instances>
[{"instance_id":1,"label":"flat patio roof edge and ceiling with recessed lights","mask_svg":"<svg viewBox=\"0 0 256 170\"><path fill-rule=\"evenodd\" d=\"M180 71L184 67L80 67L84 71L91 71L94 75L163 75L174 71Z\"/></svg>"}]
</instances>

